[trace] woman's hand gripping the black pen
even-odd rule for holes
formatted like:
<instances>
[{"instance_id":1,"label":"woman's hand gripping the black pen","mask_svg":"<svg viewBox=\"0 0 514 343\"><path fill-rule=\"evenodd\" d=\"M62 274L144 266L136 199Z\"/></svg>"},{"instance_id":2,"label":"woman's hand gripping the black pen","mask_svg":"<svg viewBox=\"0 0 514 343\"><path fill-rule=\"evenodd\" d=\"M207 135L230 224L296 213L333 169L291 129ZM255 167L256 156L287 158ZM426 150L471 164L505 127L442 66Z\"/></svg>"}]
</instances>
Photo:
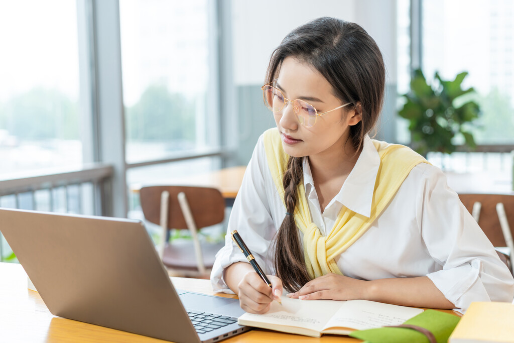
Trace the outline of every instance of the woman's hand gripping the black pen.
<instances>
[{"instance_id":1,"label":"woman's hand gripping the black pen","mask_svg":"<svg viewBox=\"0 0 514 343\"><path fill-rule=\"evenodd\" d=\"M239 303L249 313L262 314L268 312L273 300L280 301L282 281L273 275L267 275L271 282L270 288L255 272L245 274L237 285Z\"/></svg>"}]
</instances>

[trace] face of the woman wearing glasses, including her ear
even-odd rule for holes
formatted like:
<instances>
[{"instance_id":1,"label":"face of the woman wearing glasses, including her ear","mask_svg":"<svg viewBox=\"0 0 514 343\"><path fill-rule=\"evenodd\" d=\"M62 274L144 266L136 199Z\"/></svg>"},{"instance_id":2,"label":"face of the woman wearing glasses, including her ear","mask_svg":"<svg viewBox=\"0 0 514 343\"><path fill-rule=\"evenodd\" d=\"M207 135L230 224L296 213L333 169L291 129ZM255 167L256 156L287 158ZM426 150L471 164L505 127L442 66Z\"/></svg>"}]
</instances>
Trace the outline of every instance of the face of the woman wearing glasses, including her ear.
<instances>
[{"instance_id":1,"label":"face of the woman wearing glasses, including her ear","mask_svg":"<svg viewBox=\"0 0 514 343\"><path fill-rule=\"evenodd\" d=\"M318 113L343 105L334 95L332 85L319 71L294 57L287 57L282 62L276 87L287 99L304 100L313 105ZM282 136L284 151L288 155L314 157L331 156L332 153L339 155L345 151L345 144L352 147L351 140L347 139L350 126L357 124L361 116L355 110L346 111L343 107L318 116L316 124L306 128L298 121L289 102L280 112L274 113L274 119Z\"/></svg>"}]
</instances>

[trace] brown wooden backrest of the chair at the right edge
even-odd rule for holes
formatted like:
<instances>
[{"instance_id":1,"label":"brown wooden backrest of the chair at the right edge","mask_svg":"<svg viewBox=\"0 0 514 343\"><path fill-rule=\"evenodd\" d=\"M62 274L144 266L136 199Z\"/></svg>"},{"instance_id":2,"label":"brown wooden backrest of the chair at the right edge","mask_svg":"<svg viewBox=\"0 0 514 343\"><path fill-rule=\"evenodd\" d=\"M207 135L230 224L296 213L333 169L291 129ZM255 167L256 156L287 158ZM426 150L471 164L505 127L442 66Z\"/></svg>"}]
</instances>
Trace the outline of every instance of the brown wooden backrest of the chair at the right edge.
<instances>
[{"instance_id":1,"label":"brown wooden backrest of the chair at the right edge","mask_svg":"<svg viewBox=\"0 0 514 343\"><path fill-rule=\"evenodd\" d=\"M462 203L472 213L473 205L476 202L482 204L479 217L479 225L487 238L494 246L506 246L503 232L500 226L500 219L496 210L498 203L503 203L505 214L514 236L514 195L511 194L458 194Z\"/></svg>"}]
</instances>

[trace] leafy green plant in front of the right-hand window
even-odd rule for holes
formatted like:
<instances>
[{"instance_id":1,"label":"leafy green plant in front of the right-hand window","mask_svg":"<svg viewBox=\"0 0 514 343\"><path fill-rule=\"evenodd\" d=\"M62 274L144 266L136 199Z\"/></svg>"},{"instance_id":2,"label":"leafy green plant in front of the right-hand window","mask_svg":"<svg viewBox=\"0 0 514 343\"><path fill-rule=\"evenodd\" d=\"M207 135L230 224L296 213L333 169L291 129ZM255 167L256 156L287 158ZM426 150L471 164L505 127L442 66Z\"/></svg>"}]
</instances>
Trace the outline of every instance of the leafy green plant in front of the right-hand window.
<instances>
[{"instance_id":1,"label":"leafy green plant in front of the right-hand window","mask_svg":"<svg viewBox=\"0 0 514 343\"><path fill-rule=\"evenodd\" d=\"M467 72L460 73L455 80L445 81L436 72L435 82L429 85L420 69L414 71L411 91L403 95L406 102L398 114L409 120L411 146L419 154L454 152L456 146L452 140L458 134L464 137L467 147L476 147L469 128L479 117L480 107L475 101L462 97L474 92L472 87L462 89L467 75Z\"/></svg>"}]
</instances>

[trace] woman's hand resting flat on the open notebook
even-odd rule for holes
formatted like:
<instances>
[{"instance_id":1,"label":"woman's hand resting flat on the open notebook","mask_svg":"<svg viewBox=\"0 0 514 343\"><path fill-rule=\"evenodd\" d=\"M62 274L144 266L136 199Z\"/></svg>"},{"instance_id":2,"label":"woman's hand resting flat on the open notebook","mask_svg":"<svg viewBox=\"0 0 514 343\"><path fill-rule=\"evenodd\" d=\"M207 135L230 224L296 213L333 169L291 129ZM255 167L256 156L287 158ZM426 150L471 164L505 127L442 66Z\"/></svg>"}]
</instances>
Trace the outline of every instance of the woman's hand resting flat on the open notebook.
<instances>
[{"instance_id":1,"label":"woman's hand resting flat on the open notebook","mask_svg":"<svg viewBox=\"0 0 514 343\"><path fill-rule=\"evenodd\" d=\"M290 293L289 298L301 300L353 300L365 299L369 281L357 280L338 274L326 274L310 280L298 292Z\"/></svg>"}]
</instances>

